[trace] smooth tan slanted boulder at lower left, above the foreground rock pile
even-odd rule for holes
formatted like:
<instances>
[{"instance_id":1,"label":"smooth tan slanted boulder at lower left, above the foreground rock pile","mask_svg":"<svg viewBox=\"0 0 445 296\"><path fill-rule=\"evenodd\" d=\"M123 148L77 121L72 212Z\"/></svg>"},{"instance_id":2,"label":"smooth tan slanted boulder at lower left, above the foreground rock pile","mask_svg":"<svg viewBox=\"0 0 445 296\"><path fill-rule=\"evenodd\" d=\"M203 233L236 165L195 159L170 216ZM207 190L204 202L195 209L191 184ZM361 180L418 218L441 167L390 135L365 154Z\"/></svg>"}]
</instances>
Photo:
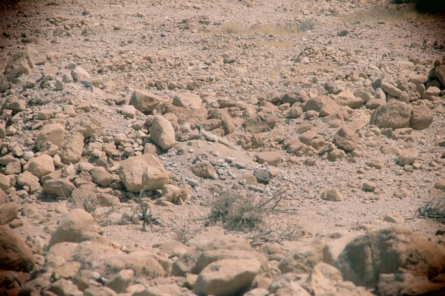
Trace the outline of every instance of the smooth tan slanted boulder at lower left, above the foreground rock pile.
<instances>
[{"instance_id":1,"label":"smooth tan slanted boulder at lower left, above the foreground rock pile","mask_svg":"<svg viewBox=\"0 0 445 296\"><path fill-rule=\"evenodd\" d=\"M79 234L92 230L93 224L94 219L90 213L80 208L75 208L64 217L58 228L55 229L49 241L49 246L51 247L55 243L64 241L74 242L79 237Z\"/></svg>"}]
</instances>

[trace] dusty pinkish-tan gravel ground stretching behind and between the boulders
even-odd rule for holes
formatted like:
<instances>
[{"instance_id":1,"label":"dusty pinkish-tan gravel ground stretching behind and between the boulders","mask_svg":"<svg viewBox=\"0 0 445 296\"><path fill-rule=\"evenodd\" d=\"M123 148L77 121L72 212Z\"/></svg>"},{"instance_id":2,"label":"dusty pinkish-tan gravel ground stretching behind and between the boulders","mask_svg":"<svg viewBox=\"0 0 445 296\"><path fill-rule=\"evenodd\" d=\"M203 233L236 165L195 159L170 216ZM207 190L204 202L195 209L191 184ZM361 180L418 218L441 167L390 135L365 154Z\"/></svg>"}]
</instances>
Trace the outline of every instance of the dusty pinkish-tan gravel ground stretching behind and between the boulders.
<instances>
[{"instance_id":1,"label":"dusty pinkish-tan gravel ground stretching behind and between the boulders","mask_svg":"<svg viewBox=\"0 0 445 296\"><path fill-rule=\"evenodd\" d=\"M10 55L18 49L31 52L38 66L34 74L24 76L22 84L16 86L15 93L23 94L21 85L36 81L40 71L74 62L88 70L92 77L103 79L106 88L92 93L80 83L68 83L62 91L53 88L27 90L23 96L30 99L29 108L55 109L73 98L75 105L91 105L92 111L78 109L77 116L68 119L69 129L84 126L88 118L94 117L99 118L109 135L128 135L133 131L131 124L141 118L123 116L118 113L119 107L107 103L107 99L128 99L136 89L148 90L165 100L172 100L176 92L190 91L199 95L214 92L216 98L228 97L259 107L258 100L268 100L275 94L281 96L297 86L312 96L328 81L334 82L338 89L355 92L369 88L370 82L383 74L394 81L398 75L407 76L413 72L428 75L434 59L444 55L440 44L445 36L445 23L393 21L390 18L354 21L357 12L383 6L382 2L23 1L12 10L0 12L0 31L3 31L0 68L5 67ZM307 27L299 27L301 24ZM57 28L60 36L55 33ZM348 34L339 36L343 30L348 30ZM38 38L37 42L23 43L23 38L30 37ZM307 51L303 54L307 60L298 61L302 51ZM235 62L225 63L223 55ZM415 61L416 65L401 63L408 61ZM369 78L358 81L345 78L353 70L364 72ZM51 101L46 105L38 103L44 97ZM266 193L247 191L266 198L268 192L272 194L288 187L281 211L272 213L269 219L301 227L305 237L299 241L281 241L283 250L331 230L364 232L387 227L390 223L383 221L383 217L390 213L405 218L404 227L431 235L437 241L435 231L444 226L416 217L416 210L431 200L429 189L444 178L442 162L430 165L437 157L440 159L444 150L437 145L445 129L442 103L445 103L443 97L434 105L433 124L422 131L413 131L409 139L380 135L379 129L367 123L369 110L354 111L351 121L366 120L357 149L361 156L355 157L355 162L348 161L347 157L329 161L316 156L316 165L308 166L305 165L307 156L290 159L291 155L282 148L278 138L291 137L295 126L307 120L304 114L300 118L288 118L279 108L277 124L266 136L262 148L244 150L238 146L238 150L230 150L222 144L203 140L177 142L160 159L177 183L187 183L187 177L199 186L192 187L188 201L181 206L164 207L153 203L152 213L160 217L164 226L156 226L157 232L143 232L141 225L117 225L123 213L133 213L131 206L136 206L133 202L120 204L109 217L97 219L97 224L103 228L107 239L128 248L135 244L151 247L175 239L175 231L183 227L195 233L188 242L190 245L227 234L251 237L250 232L228 232L222 226L204 226L209 204L217 198L209 188L220 185L228 190L233 184L238 185L245 172L253 172L255 167L261 166L255 162L256 152L277 150L282 159L277 166L277 176L269 185L259 185ZM233 116L237 117L243 118L242 112ZM321 118L312 122L325 142L331 142L338 129L329 127ZM23 122L22 127L31 125L32 121ZM23 145L27 137L35 138L37 133L24 128L18 135L5 137L3 143ZM243 135L245 131L238 126L227 139L236 144ZM424 168L412 173L403 171L403 167L396 164L396 156L380 152L382 146L388 145L418 150L418 161ZM5 146L7 144L3 144ZM177 155L181 147L186 152ZM32 147L25 149L32 150ZM215 161L233 157L244 163L245 168L225 167L220 174L223 177L217 180L196 178L188 167L196 155L202 154ZM377 170L366 165L373 158L384 161L385 167ZM373 180L378 190L374 193L363 191L364 180ZM321 200L320 193L327 187L339 189L344 200ZM409 195L394 197L394 192L401 187L406 188ZM16 228L16 232L23 237L40 234L47 242L63 215L54 215L49 221L40 223L42 217L61 204L68 207L69 204L64 200L48 202L36 198L37 193L34 193L23 196L19 202L36 202L40 219L23 217L28 224Z\"/></svg>"}]
</instances>

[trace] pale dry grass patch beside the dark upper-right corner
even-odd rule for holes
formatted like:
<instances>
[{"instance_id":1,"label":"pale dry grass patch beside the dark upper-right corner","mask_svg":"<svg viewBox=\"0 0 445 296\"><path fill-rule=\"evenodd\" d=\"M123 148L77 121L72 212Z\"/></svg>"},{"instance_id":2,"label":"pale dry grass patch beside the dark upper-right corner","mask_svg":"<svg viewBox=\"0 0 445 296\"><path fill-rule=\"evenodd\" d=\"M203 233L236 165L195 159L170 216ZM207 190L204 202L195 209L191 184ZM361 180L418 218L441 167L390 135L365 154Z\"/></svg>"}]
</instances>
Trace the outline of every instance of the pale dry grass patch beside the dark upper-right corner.
<instances>
[{"instance_id":1,"label":"pale dry grass patch beside the dark upper-right corner","mask_svg":"<svg viewBox=\"0 0 445 296\"><path fill-rule=\"evenodd\" d=\"M432 14L422 14L411 7L404 8L379 8L374 7L368 10L361 10L347 16L339 18L340 23L357 23L378 21L397 22L397 21L444 21L443 16Z\"/></svg>"}]
</instances>

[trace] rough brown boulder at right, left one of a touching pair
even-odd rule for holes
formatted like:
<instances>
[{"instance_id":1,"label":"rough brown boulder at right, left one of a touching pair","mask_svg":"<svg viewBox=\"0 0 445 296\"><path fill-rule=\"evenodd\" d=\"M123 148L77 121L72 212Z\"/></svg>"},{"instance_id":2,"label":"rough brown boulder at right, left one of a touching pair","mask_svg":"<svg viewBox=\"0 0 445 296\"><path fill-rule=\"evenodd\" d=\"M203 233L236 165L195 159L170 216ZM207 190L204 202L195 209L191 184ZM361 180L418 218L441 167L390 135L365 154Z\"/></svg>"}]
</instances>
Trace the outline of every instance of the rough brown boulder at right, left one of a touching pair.
<instances>
[{"instance_id":1,"label":"rough brown boulder at right, left one of a touching pair","mask_svg":"<svg viewBox=\"0 0 445 296\"><path fill-rule=\"evenodd\" d=\"M409 126L411 118L411 108L405 103L398 100L390 100L372 111L370 124L379 127L387 127L391 129L399 129Z\"/></svg>"}]
</instances>

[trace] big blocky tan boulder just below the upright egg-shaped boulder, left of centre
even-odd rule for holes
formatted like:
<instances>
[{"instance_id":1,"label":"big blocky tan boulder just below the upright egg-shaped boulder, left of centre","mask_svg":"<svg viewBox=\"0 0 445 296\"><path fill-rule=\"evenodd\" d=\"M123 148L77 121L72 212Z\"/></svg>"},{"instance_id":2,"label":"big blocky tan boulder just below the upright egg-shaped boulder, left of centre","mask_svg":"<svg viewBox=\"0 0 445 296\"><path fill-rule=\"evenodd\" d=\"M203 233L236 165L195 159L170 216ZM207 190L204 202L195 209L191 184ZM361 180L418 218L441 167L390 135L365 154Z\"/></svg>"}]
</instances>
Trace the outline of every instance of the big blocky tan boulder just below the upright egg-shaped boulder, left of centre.
<instances>
[{"instance_id":1,"label":"big blocky tan boulder just below the upright egg-shaped boulder, left of centre","mask_svg":"<svg viewBox=\"0 0 445 296\"><path fill-rule=\"evenodd\" d=\"M168 183L168 174L164 166L152 154L129 157L121 161L118 174L125 188L136 193L162 189Z\"/></svg>"}]
</instances>

